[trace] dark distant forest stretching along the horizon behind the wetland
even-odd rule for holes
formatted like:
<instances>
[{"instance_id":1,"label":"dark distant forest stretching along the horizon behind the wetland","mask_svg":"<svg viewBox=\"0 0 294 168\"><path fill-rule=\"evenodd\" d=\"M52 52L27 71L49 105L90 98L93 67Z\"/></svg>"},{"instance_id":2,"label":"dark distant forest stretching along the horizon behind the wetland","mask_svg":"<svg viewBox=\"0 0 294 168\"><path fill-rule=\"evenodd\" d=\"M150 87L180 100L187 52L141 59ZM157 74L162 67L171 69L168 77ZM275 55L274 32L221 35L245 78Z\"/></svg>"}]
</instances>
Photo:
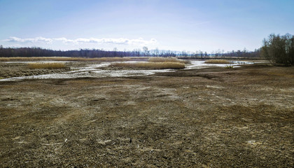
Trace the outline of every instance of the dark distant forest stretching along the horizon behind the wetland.
<instances>
[{"instance_id":1,"label":"dark distant forest stretching along the horizon behind the wetland","mask_svg":"<svg viewBox=\"0 0 294 168\"><path fill-rule=\"evenodd\" d=\"M175 52L170 50L143 50L118 51L116 48L112 51L99 49L80 49L80 50L48 50L43 48L3 48L0 45L0 57L181 57L181 58L209 58L209 57L260 57L260 49L255 51L237 50L230 52L221 52L220 50L212 53L197 52Z\"/></svg>"}]
</instances>

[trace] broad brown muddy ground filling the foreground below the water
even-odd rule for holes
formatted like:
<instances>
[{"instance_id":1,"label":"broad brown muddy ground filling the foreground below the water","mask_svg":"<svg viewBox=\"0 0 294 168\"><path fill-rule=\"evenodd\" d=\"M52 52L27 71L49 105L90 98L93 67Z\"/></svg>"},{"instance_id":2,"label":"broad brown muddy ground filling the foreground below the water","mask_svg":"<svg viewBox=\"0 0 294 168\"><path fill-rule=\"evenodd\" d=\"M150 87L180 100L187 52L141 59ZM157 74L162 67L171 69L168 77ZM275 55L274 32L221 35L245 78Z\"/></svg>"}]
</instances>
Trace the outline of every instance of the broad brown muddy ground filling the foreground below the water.
<instances>
[{"instance_id":1,"label":"broad brown muddy ground filling the foreground below the water","mask_svg":"<svg viewBox=\"0 0 294 168\"><path fill-rule=\"evenodd\" d=\"M0 82L1 167L293 167L294 67Z\"/></svg>"}]
</instances>

